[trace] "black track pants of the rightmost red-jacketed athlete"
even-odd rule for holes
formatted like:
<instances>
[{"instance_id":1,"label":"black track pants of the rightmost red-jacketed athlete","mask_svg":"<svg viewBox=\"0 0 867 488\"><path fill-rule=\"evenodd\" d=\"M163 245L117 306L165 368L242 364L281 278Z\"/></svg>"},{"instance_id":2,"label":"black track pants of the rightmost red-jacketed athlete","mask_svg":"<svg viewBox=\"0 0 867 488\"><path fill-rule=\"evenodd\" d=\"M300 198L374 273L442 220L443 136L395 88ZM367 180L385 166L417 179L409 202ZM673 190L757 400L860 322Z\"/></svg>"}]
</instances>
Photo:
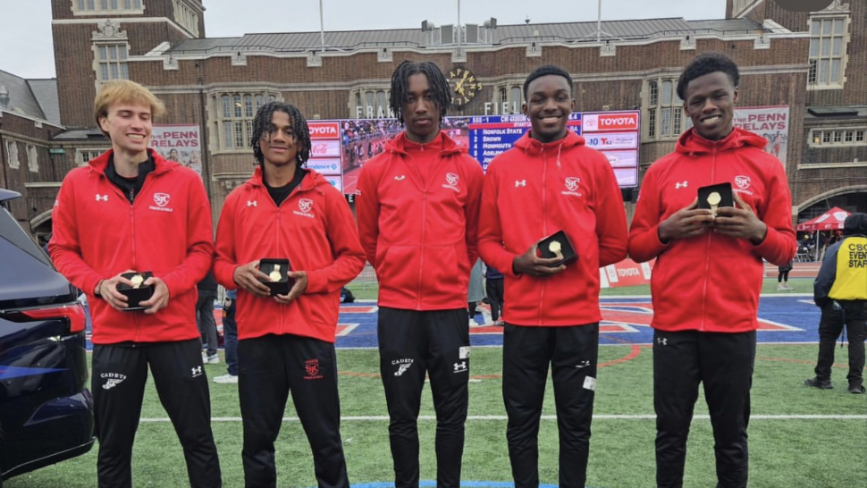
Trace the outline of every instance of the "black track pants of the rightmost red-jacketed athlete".
<instances>
[{"instance_id":1,"label":"black track pants of the rightmost red-jacketed athlete","mask_svg":"<svg viewBox=\"0 0 867 488\"><path fill-rule=\"evenodd\" d=\"M681 488L698 384L713 428L718 488L745 488L755 332L653 332L656 484Z\"/></svg>"}]
</instances>

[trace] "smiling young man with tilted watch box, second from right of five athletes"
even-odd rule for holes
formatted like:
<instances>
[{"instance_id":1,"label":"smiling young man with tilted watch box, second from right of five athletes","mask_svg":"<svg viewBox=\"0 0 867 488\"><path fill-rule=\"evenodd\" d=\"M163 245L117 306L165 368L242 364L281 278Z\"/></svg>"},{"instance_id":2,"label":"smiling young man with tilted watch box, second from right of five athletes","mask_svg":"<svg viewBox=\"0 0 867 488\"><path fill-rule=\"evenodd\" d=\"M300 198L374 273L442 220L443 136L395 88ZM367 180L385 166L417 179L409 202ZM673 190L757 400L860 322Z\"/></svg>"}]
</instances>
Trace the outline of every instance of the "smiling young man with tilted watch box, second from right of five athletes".
<instances>
[{"instance_id":1,"label":"smiling young man with tilted watch box, second from right of five athletes","mask_svg":"<svg viewBox=\"0 0 867 488\"><path fill-rule=\"evenodd\" d=\"M524 97L530 130L488 166L479 223L482 259L505 275L509 460L516 488L539 485L539 416L550 366L560 486L584 488L602 320L599 268L626 257L626 212L608 159L568 130L575 108L568 72L537 68L524 81ZM541 240L558 231L577 262L537 255Z\"/></svg>"}]
</instances>

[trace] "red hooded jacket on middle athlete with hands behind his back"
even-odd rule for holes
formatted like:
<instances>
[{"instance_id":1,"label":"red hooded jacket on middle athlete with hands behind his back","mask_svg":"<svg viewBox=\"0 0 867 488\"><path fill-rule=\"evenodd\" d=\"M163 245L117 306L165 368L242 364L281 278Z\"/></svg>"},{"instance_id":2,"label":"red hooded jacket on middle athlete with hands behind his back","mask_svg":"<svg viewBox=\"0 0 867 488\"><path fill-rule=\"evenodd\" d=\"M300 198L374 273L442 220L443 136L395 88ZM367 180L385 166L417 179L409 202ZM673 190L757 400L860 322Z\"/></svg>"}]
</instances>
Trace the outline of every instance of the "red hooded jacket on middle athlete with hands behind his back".
<instances>
[{"instance_id":1,"label":"red hooded jacket on middle athlete with hands behind his back","mask_svg":"<svg viewBox=\"0 0 867 488\"><path fill-rule=\"evenodd\" d=\"M358 233L383 307L467 307L484 176L465 148L442 130L437 138L428 145L441 150L418 162L401 132L358 176Z\"/></svg>"}]
</instances>

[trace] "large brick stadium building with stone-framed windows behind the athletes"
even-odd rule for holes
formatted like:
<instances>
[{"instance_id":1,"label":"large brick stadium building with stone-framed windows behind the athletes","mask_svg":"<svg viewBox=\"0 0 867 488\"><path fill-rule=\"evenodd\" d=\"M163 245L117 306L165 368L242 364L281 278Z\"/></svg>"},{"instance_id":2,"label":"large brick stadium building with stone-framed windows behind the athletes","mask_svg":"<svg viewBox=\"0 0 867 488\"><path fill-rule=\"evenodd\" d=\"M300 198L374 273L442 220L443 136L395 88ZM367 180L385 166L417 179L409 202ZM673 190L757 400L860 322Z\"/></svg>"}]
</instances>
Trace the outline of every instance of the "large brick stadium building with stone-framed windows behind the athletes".
<instances>
[{"instance_id":1,"label":"large brick stadium building with stone-framed windows behind the athletes","mask_svg":"<svg viewBox=\"0 0 867 488\"><path fill-rule=\"evenodd\" d=\"M23 195L10 208L25 228L40 237L50 232L63 175L110 146L91 115L105 80L151 88L167 108L158 123L196 126L216 219L252 170L248 122L269 99L298 105L311 120L387 117L395 66L426 59L447 74L469 70L481 82L450 115L519 113L526 74L555 63L575 80L577 111L641 111L644 170L686 130L674 86L682 67L707 50L740 66L739 106L787 107L776 150L787 164L797 221L833 206L867 211L861 0L813 13L787 12L772 0L727 0L726 19L604 21L601 31L596 22L497 25L492 18L438 27L419 20L416 29L323 38L206 38L203 12L201 0L52 0L56 80L0 71L0 187ZM751 124L762 134L765 121ZM624 192L627 211L632 193Z\"/></svg>"}]
</instances>

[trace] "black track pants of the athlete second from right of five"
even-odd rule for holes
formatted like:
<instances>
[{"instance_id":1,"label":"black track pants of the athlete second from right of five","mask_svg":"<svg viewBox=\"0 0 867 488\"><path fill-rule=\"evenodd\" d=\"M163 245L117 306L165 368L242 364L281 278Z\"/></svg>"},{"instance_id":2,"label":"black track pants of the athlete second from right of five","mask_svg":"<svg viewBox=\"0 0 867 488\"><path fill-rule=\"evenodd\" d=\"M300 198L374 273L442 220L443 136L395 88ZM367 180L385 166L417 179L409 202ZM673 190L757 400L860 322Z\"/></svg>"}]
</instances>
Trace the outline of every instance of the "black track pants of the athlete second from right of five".
<instances>
[{"instance_id":1,"label":"black track pants of the athlete second from right of five","mask_svg":"<svg viewBox=\"0 0 867 488\"><path fill-rule=\"evenodd\" d=\"M506 324L502 396L515 488L539 486L539 416L548 381L554 383L560 433L560 487L584 488L596 389L599 324L528 327Z\"/></svg>"}]
</instances>

